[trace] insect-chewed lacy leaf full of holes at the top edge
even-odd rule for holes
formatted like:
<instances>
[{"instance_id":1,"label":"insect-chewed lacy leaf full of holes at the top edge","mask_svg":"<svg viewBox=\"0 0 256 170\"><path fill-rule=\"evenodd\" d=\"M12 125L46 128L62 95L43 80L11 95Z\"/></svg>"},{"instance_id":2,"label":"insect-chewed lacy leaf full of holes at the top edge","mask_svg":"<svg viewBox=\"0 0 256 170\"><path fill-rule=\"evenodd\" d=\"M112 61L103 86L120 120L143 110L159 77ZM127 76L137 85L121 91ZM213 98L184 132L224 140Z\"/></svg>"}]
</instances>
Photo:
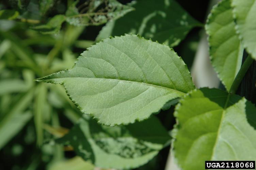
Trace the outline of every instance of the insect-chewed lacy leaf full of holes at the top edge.
<instances>
[{"instance_id":1,"label":"insect-chewed lacy leaf full of holes at the top edge","mask_svg":"<svg viewBox=\"0 0 256 170\"><path fill-rule=\"evenodd\" d=\"M85 2L77 8L78 2L77 0L71 4L66 12L66 21L74 26L97 26L134 10L133 7L122 5L116 0L95 0L90 1L89 5ZM100 5L104 7L98 9Z\"/></svg>"}]
</instances>

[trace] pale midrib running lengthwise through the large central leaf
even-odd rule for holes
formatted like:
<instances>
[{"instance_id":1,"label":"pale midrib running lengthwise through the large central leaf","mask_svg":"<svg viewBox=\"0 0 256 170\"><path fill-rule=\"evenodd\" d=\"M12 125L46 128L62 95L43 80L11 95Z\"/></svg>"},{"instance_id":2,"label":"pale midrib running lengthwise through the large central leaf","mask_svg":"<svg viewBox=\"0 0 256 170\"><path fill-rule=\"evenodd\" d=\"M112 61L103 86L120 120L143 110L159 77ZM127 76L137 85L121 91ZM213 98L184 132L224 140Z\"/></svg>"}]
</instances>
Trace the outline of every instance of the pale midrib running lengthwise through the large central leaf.
<instances>
[{"instance_id":1,"label":"pale midrib running lengthwise through the large central leaf","mask_svg":"<svg viewBox=\"0 0 256 170\"><path fill-rule=\"evenodd\" d=\"M54 80L54 79L100 79L100 80L108 80L108 81L122 81L122 82L126 82L126 83L136 83L136 84L142 84L142 85L145 85L145 86L152 86L152 87L156 87L156 88L162 88L162 89L166 89L168 91L175 91L181 95L185 95L186 93L185 92L182 92L182 91L179 91L179 90L175 90L175 89L172 89L172 88L168 88L168 87L163 87L163 86L159 86L159 85L154 85L154 84L148 84L148 83L143 83L143 82L134 82L134 81L128 81L128 80L121 80L121 79L107 79L107 78L87 78L87 77L63 77L63 78L51 78L51 79L43 79L43 80L40 80L40 79L37 79L37 81L49 81L49 80ZM63 82L65 83L65 82Z\"/></svg>"}]
</instances>

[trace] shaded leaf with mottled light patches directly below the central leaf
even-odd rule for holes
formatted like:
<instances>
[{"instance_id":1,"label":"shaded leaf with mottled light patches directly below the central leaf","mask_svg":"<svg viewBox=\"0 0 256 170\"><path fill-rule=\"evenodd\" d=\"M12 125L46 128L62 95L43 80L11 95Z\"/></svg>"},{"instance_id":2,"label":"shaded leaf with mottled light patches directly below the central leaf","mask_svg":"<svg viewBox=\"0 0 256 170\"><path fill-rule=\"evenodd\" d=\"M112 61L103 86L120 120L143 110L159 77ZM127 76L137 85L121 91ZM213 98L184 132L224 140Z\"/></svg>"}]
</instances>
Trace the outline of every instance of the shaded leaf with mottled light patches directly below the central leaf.
<instances>
[{"instance_id":1,"label":"shaded leaf with mottled light patches directly below the central leaf","mask_svg":"<svg viewBox=\"0 0 256 170\"><path fill-rule=\"evenodd\" d=\"M99 125L93 119L80 119L57 142L70 144L77 155L90 160L95 166L129 169L147 163L170 144L170 139L168 132L153 116L143 122L114 127Z\"/></svg>"}]
</instances>

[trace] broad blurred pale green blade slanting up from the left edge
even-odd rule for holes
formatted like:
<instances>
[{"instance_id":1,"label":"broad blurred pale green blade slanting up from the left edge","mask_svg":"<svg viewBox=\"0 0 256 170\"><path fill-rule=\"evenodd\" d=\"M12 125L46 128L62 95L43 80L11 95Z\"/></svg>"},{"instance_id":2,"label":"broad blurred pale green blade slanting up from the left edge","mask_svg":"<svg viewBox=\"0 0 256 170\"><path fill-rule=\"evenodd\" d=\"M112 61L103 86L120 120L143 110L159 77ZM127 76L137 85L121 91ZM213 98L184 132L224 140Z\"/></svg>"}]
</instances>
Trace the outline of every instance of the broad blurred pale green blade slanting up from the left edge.
<instances>
[{"instance_id":1,"label":"broad blurred pale green blade slanting up from the left edge","mask_svg":"<svg viewBox=\"0 0 256 170\"><path fill-rule=\"evenodd\" d=\"M0 149L32 118L32 113L25 110L31 103L33 95L34 89L31 89L15 103L8 113L0 114Z\"/></svg>"}]
</instances>

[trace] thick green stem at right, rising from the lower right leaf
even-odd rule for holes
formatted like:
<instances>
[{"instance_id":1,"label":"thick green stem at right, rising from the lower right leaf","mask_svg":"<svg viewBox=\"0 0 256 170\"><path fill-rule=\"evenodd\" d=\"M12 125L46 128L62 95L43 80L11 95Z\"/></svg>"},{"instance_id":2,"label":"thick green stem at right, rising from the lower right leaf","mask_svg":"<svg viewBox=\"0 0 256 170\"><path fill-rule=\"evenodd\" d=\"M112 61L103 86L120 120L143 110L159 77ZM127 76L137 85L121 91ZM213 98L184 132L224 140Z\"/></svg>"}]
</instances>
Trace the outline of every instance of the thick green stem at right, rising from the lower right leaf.
<instances>
[{"instance_id":1,"label":"thick green stem at right, rising from the lower right leaf","mask_svg":"<svg viewBox=\"0 0 256 170\"><path fill-rule=\"evenodd\" d=\"M247 72L247 70L249 69L249 67L251 66L251 64L253 63L254 59L248 55L247 58L245 59L243 65L241 66L240 70L237 73L237 76L233 82L233 84L231 85L231 88L229 90L229 92L231 94L235 94L237 91L237 88L239 87L245 73Z\"/></svg>"}]
</instances>

